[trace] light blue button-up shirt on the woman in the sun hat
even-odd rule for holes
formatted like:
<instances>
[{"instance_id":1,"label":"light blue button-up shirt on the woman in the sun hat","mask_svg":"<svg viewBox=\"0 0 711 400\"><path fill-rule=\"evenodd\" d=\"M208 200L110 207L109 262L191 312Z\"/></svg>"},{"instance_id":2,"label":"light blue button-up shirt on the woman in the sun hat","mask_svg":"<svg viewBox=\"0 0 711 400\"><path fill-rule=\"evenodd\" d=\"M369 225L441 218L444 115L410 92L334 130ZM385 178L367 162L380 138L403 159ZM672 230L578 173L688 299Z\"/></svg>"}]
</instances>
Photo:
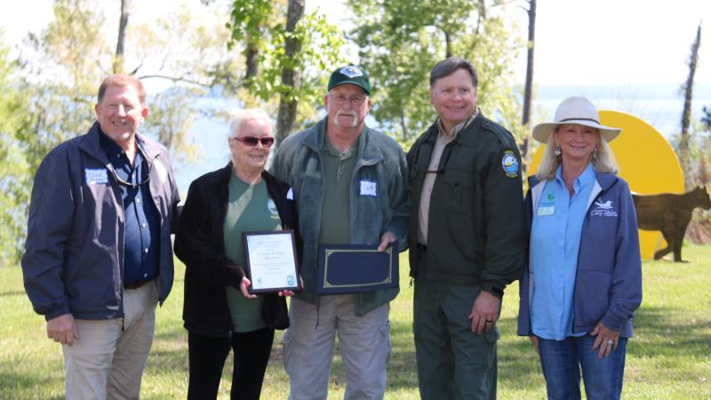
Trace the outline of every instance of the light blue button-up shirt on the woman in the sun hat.
<instances>
[{"instance_id":1,"label":"light blue button-up shirt on the woman in the sun hat","mask_svg":"<svg viewBox=\"0 0 711 400\"><path fill-rule=\"evenodd\" d=\"M587 200L595 186L592 164L573 182L570 196L558 166L533 210L531 265L533 293L531 327L536 336L563 340L587 332L572 332L573 293L578 266L580 234Z\"/></svg>"}]
</instances>

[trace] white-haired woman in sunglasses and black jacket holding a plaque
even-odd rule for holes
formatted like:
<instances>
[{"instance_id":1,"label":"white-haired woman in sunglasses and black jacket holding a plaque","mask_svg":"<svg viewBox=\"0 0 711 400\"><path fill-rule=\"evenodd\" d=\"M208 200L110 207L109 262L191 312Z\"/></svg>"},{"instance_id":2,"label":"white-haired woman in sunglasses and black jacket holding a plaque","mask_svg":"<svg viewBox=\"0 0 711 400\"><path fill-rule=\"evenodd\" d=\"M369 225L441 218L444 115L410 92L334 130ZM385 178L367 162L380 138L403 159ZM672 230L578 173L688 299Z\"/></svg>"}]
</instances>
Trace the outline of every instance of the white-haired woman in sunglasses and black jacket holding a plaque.
<instances>
[{"instance_id":1,"label":"white-haired woman in sunglasses and black jacket holding a plaque","mask_svg":"<svg viewBox=\"0 0 711 400\"><path fill-rule=\"evenodd\" d=\"M272 124L264 111L245 109L229 126L232 160L193 181L175 236L175 254L186 265L188 399L217 397L230 348L231 398L258 399L274 331L289 325L284 296L293 293L250 294L242 267L243 231L298 227L291 188L265 171Z\"/></svg>"}]
</instances>

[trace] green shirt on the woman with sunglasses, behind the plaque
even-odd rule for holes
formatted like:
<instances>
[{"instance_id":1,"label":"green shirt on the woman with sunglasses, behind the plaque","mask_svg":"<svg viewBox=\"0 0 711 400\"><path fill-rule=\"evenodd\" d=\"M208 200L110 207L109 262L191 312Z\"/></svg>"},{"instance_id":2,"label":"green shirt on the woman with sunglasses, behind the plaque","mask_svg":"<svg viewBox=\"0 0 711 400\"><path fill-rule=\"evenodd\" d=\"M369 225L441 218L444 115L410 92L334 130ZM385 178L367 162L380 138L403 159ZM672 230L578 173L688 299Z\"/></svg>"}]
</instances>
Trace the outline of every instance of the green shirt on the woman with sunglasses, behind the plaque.
<instances>
[{"instance_id":1,"label":"green shirt on the woman with sunglasses, behind the plaque","mask_svg":"<svg viewBox=\"0 0 711 400\"><path fill-rule=\"evenodd\" d=\"M244 266L242 232L251 230L278 230L282 228L276 204L269 197L264 180L250 185L233 173L229 179L228 211L222 232L225 253L237 265ZM235 332L251 332L265 326L261 317L264 299L246 299L239 289L227 286L228 307Z\"/></svg>"}]
</instances>

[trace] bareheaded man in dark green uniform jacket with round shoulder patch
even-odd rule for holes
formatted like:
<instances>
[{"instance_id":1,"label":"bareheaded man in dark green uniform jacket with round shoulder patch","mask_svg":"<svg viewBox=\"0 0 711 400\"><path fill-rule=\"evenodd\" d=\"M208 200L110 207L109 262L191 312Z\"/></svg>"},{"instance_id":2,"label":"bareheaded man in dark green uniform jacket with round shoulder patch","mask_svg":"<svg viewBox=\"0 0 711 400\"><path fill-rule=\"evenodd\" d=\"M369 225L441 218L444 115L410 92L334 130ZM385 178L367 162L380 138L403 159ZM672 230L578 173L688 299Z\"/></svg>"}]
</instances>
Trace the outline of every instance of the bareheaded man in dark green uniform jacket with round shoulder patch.
<instances>
[{"instance_id":1,"label":"bareheaded man in dark green uniform jacket with round shoulder patch","mask_svg":"<svg viewBox=\"0 0 711 400\"><path fill-rule=\"evenodd\" d=\"M523 271L520 156L511 133L476 107L476 70L449 58L430 72L439 118L408 153L410 266L419 394L496 397L504 288Z\"/></svg>"}]
</instances>

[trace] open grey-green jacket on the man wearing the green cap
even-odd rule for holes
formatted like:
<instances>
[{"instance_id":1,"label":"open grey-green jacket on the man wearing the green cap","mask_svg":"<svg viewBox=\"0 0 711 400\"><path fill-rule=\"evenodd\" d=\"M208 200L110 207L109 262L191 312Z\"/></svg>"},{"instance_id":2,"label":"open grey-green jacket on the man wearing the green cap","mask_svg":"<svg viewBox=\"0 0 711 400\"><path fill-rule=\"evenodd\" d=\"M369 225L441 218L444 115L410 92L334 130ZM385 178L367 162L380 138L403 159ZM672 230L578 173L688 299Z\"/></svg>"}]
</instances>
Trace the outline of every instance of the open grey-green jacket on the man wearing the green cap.
<instances>
[{"instance_id":1,"label":"open grey-green jacket on the man wearing the green cap","mask_svg":"<svg viewBox=\"0 0 711 400\"><path fill-rule=\"evenodd\" d=\"M286 138L276 150L270 171L292 185L299 207L300 234L304 242L301 276L306 289L300 300L318 304L318 238L324 204L321 173L326 119ZM407 192L407 162L395 140L367 126L358 140L356 167L351 177L350 244L379 244L386 231L395 234L399 250L407 247L410 200ZM361 180L377 182L377 196L359 196ZM356 316L363 316L390 300L399 289L356 294Z\"/></svg>"}]
</instances>

